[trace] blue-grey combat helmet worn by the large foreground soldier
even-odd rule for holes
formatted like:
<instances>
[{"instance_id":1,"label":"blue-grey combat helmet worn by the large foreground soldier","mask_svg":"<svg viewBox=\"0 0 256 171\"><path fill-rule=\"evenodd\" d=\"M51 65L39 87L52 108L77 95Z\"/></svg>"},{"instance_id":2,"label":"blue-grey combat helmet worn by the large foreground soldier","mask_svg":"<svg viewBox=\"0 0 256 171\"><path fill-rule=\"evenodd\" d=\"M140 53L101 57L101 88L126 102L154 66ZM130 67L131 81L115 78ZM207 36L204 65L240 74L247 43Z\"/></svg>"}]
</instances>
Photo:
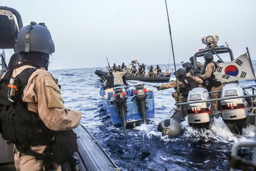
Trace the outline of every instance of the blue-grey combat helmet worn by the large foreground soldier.
<instances>
[{"instance_id":1,"label":"blue-grey combat helmet worn by the large foreground soldier","mask_svg":"<svg viewBox=\"0 0 256 171\"><path fill-rule=\"evenodd\" d=\"M15 43L15 53L42 52L54 53L54 43L51 34L44 23L30 22L18 32Z\"/></svg>"}]
</instances>

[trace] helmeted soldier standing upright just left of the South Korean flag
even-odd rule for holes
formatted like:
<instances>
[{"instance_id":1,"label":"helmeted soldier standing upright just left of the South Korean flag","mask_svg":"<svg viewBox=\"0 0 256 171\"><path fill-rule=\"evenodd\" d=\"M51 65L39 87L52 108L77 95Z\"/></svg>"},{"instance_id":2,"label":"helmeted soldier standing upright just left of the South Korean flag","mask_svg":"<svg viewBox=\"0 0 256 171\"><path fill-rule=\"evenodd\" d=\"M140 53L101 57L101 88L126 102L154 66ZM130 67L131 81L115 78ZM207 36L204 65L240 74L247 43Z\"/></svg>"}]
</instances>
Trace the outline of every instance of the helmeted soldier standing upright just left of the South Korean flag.
<instances>
[{"instance_id":1,"label":"helmeted soldier standing upright just left of the South Korean flag","mask_svg":"<svg viewBox=\"0 0 256 171\"><path fill-rule=\"evenodd\" d=\"M206 81L208 81L208 85L206 85L206 88L208 91L219 91L222 89L223 85L220 81L218 81L215 78L215 75L213 74L217 67L218 64L216 62L214 62L213 60L213 55L212 53L205 53L204 54L204 60L205 60L205 64L203 69L202 69L202 75L197 75L200 78L202 78L202 80L204 81L204 83L206 83ZM210 97L212 99L216 99L221 95L221 93L211 93ZM217 102L212 102L212 110L213 111L217 111L218 110L218 103Z\"/></svg>"}]
</instances>

